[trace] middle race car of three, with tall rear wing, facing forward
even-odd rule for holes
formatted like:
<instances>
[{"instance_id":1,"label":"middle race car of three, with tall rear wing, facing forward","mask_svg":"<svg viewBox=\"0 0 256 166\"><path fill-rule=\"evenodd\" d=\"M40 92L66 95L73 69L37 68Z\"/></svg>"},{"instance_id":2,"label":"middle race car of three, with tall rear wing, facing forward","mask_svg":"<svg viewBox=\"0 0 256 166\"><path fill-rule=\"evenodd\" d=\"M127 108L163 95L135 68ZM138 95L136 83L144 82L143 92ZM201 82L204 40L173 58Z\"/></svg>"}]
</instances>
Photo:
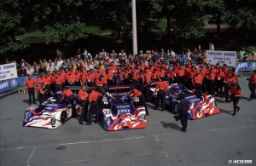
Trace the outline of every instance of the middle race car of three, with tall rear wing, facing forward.
<instances>
[{"instance_id":1,"label":"middle race car of three, with tall rear wing, facing forward","mask_svg":"<svg viewBox=\"0 0 256 166\"><path fill-rule=\"evenodd\" d=\"M103 128L111 130L146 128L147 117L144 106L139 106L138 98L131 100L128 96L131 87L110 87L103 96Z\"/></svg>"}]
</instances>

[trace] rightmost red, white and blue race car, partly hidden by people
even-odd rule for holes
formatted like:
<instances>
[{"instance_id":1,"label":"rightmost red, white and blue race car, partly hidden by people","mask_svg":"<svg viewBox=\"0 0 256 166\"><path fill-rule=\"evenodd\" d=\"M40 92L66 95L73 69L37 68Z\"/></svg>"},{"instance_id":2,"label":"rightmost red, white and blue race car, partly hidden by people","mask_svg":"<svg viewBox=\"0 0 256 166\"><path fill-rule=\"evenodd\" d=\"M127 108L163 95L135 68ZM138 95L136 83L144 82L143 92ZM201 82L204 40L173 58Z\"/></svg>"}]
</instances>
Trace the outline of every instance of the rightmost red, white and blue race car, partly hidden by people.
<instances>
[{"instance_id":1,"label":"rightmost red, white and blue race car, partly hidden by people","mask_svg":"<svg viewBox=\"0 0 256 166\"><path fill-rule=\"evenodd\" d=\"M151 100L154 100L157 95L155 89L156 83L150 84ZM167 91L165 105L170 108L170 111L177 113L177 103L180 101L179 94L185 94L185 100L189 101L189 119L198 119L219 113L219 108L212 95L205 94L198 98L193 91L185 89L183 84L172 83Z\"/></svg>"}]
</instances>

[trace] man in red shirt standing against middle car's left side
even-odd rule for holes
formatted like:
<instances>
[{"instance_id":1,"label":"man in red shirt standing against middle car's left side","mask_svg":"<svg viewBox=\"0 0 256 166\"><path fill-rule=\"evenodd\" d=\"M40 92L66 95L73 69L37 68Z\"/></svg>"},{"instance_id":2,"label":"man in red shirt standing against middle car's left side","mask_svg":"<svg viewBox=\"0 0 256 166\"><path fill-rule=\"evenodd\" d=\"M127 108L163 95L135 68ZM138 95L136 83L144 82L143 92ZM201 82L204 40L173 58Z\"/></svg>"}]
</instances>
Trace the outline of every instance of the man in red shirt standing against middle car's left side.
<instances>
[{"instance_id":1,"label":"man in red shirt standing against middle car's left side","mask_svg":"<svg viewBox=\"0 0 256 166\"><path fill-rule=\"evenodd\" d=\"M88 123L86 125L91 125L91 117L93 113L96 112L96 119L95 123L98 123L99 117L100 117L100 106L98 103L98 98L102 97L102 94L99 92L96 92L96 87L91 87L91 93L89 94L89 102L90 102L90 109L89 109L89 116L88 116Z\"/></svg>"}]
</instances>

